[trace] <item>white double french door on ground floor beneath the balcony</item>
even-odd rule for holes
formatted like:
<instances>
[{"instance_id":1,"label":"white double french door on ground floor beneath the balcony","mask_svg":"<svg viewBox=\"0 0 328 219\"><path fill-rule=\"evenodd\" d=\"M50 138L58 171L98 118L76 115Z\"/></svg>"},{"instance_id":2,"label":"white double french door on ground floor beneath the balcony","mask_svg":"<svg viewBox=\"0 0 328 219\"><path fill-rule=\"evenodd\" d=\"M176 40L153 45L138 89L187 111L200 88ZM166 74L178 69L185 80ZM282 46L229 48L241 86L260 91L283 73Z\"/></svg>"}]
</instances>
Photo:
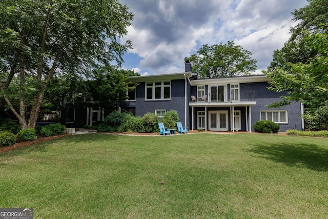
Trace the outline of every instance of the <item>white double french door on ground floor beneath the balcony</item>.
<instances>
[{"instance_id":1,"label":"white double french door on ground floor beneath the balcony","mask_svg":"<svg viewBox=\"0 0 328 219\"><path fill-rule=\"evenodd\" d=\"M228 111L209 111L209 130L228 131Z\"/></svg>"}]
</instances>

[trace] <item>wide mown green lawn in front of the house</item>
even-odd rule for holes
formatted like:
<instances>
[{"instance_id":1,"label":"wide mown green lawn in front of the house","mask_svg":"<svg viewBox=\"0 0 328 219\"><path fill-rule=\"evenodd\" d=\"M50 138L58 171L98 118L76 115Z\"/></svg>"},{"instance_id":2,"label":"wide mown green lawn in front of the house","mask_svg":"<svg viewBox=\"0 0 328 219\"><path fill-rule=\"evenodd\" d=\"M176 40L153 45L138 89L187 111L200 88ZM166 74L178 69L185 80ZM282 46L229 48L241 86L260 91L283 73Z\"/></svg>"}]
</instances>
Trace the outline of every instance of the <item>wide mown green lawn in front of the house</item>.
<instances>
[{"instance_id":1,"label":"wide mown green lawn in front of the house","mask_svg":"<svg viewBox=\"0 0 328 219\"><path fill-rule=\"evenodd\" d=\"M327 172L325 138L75 135L0 154L0 208L33 208L34 218L327 218Z\"/></svg>"}]
</instances>

